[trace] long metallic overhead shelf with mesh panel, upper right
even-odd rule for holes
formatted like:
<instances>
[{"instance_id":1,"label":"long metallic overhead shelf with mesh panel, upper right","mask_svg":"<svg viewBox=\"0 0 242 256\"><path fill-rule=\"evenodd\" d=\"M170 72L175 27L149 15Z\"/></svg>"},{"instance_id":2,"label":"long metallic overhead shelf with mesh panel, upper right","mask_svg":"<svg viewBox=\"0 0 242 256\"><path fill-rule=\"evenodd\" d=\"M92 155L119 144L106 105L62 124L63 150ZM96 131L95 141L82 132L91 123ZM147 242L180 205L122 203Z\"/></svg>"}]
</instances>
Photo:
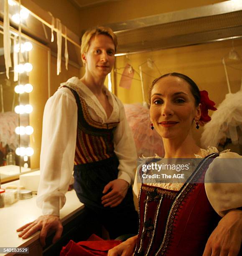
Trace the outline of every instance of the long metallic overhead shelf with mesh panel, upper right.
<instances>
[{"instance_id":1,"label":"long metallic overhead shelf with mesh panel, upper right","mask_svg":"<svg viewBox=\"0 0 242 256\"><path fill-rule=\"evenodd\" d=\"M225 1L107 26L117 35L117 54L242 38L242 1Z\"/></svg>"}]
</instances>

